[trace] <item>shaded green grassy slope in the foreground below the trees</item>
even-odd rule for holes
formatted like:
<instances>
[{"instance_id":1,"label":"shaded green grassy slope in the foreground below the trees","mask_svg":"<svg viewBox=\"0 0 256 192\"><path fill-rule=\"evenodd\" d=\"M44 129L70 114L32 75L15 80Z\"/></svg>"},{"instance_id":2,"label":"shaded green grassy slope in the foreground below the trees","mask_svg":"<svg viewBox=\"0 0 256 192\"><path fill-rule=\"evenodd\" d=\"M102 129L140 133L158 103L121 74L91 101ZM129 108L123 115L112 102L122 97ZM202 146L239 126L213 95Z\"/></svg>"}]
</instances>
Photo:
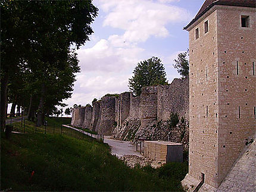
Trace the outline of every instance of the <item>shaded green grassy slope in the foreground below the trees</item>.
<instances>
[{"instance_id":1,"label":"shaded green grassy slope in the foreground below the trees","mask_svg":"<svg viewBox=\"0 0 256 192\"><path fill-rule=\"evenodd\" d=\"M56 119L49 121L57 123ZM63 135L34 133L35 127L27 122L25 135L13 134L9 141L1 134L1 190L181 190L179 181L188 171L186 163L130 169L110 154L106 144L63 131ZM35 174L30 180L32 171Z\"/></svg>"}]
</instances>

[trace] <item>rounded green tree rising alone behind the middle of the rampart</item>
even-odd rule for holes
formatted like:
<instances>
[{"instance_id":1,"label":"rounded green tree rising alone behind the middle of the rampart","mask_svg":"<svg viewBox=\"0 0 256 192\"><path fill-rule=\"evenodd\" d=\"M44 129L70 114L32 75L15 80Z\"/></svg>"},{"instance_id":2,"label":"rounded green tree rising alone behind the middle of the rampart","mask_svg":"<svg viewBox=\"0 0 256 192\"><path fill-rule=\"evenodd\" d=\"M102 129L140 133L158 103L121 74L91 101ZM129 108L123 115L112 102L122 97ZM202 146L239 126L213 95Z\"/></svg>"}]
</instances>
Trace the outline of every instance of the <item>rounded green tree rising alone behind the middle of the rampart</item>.
<instances>
[{"instance_id":1,"label":"rounded green tree rising alone behind the middle of the rampart","mask_svg":"<svg viewBox=\"0 0 256 192\"><path fill-rule=\"evenodd\" d=\"M166 71L161 59L152 56L148 60L141 61L133 70L133 77L129 78L129 89L134 95L141 95L144 86L156 86L167 84Z\"/></svg>"}]
</instances>

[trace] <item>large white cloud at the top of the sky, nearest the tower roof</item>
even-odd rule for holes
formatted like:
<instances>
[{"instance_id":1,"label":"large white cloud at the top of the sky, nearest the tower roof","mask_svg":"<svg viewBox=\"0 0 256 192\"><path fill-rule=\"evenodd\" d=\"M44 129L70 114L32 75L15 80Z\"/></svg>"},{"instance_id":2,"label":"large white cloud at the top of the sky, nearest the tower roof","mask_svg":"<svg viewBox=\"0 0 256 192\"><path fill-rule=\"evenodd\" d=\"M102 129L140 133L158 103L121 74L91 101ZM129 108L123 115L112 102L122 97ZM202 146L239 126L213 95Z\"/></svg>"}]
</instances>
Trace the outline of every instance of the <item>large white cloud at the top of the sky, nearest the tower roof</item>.
<instances>
[{"instance_id":1,"label":"large white cloud at the top of the sky, nearest the tower roof","mask_svg":"<svg viewBox=\"0 0 256 192\"><path fill-rule=\"evenodd\" d=\"M170 0L159 0L170 2ZM145 42L149 37L167 37L168 23L188 22L191 15L185 9L147 0L100 1L107 15L104 26L123 29L124 42Z\"/></svg>"}]
</instances>

